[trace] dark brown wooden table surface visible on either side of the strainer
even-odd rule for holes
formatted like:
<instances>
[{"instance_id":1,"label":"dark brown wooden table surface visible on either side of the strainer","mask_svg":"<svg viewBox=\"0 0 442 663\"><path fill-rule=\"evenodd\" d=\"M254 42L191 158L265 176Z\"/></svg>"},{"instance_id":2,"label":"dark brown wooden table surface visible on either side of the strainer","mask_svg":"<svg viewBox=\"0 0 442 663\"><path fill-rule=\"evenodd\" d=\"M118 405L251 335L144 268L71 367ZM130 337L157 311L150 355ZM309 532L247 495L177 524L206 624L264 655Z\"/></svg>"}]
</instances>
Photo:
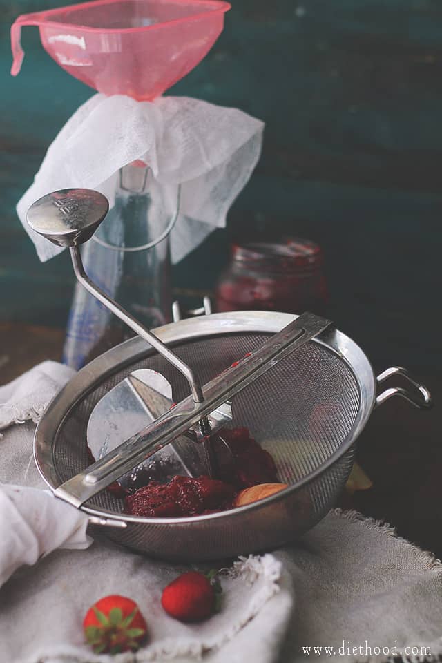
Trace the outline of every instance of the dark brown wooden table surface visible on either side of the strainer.
<instances>
[{"instance_id":1,"label":"dark brown wooden table surface visible on either side of the strainer","mask_svg":"<svg viewBox=\"0 0 442 663\"><path fill-rule=\"evenodd\" d=\"M0 325L1 382L6 383L44 359L59 360L64 329ZM441 403L436 374L417 375ZM358 461L373 488L341 498L340 506L387 521L398 534L442 556L441 414L421 411L401 398L385 403L358 441Z\"/></svg>"}]
</instances>

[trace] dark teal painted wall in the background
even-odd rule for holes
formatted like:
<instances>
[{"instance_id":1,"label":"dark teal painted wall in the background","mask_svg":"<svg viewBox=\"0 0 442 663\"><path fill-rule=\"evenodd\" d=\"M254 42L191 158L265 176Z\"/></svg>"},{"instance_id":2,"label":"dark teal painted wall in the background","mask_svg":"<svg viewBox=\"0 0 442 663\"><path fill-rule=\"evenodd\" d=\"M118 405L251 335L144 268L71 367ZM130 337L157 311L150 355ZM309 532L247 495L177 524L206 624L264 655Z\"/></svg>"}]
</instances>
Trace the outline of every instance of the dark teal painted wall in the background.
<instances>
[{"instance_id":1,"label":"dark teal painted wall in the background","mask_svg":"<svg viewBox=\"0 0 442 663\"><path fill-rule=\"evenodd\" d=\"M15 215L46 148L92 93L23 30L9 76L8 31L57 0L0 1L0 320L64 325L68 256L40 265ZM269 227L323 245L330 314L374 362L441 369L442 5L439 0L233 0L208 57L171 90L267 122L229 229L175 269L204 289L229 238Z\"/></svg>"}]
</instances>

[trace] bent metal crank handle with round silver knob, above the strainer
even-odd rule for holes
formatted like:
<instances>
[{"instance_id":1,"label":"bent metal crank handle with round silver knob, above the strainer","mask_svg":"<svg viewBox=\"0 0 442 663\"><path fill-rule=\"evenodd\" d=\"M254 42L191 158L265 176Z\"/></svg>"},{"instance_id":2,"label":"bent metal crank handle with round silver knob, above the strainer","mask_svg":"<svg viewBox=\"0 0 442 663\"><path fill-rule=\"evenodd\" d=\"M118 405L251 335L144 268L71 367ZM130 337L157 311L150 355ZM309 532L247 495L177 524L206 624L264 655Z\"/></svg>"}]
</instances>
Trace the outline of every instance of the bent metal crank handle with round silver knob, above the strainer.
<instances>
[{"instance_id":1,"label":"bent metal crank handle with round silver knob, above the strainer","mask_svg":"<svg viewBox=\"0 0 442 663\"><path fill-rule=\"evenodd\" d=\"M62 189L44 195L28 209L26 219L30 228L39 233L39 235L50 240L59 247L67 247L70 251L73 268L77 280L86 290L93 295L99 302L112 311L115 316L122 320L133 332L141 336L158 353L162 354L169 363L179 370L186 381L189 383L193 401L203 403L204 395L198 376L195 375L191 367L187 365L180 357L172 352L169 347L141 325L126 309L112 300L106 293L88 278L84 271L83 262L79 246L87 242L93 233L102 223L108 213L108 200L102 193L90 189ZM229 412L224 408L226 421L229 421ZM230 417L231 418L231 417ZM196 437L202 439L204 452L206 456L206 467L202 472L213 477L217 473L217 460L213 451L211 440L212 427L209 421L210 417L204 416L199 422L199 428L194 427L193 432ZM219 425L218 425L219 427ZM188 436L186 442L189 444ZM124 441L122 439L122 441ZM225 441L221 439L226 445ZM177 444L179 441L176 441ZM183 440L181 440L183 443Z\"/></svg>"}]
</instances>

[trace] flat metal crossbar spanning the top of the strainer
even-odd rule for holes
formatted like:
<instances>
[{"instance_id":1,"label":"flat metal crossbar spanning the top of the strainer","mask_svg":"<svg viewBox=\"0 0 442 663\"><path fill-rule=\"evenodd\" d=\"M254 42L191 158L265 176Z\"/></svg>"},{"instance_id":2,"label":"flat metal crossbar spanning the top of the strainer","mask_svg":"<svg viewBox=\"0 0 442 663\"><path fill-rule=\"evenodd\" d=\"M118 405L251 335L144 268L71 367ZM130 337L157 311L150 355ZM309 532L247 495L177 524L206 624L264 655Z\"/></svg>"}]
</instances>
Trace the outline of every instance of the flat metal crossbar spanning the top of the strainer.
<instances>
[{"instance_id":1,"label":"flat metal crossbar spanning the top of the strainer","mask_svg":"<svg viewBox=\"0 0 442 663\"><path fill-rule=\"evenodd\" d=\"M132 470L146 458L185 433L204 416L230 401L244 387L267 372L278 361L318 336L332 325L330 320L305 313L274 334L254 352L247 353L231 367L204 385L204 401L191 396L177 403L140 433L124 441L84 472L61 484L55 496L77 508Z\"/></svg>"}]
</instances>

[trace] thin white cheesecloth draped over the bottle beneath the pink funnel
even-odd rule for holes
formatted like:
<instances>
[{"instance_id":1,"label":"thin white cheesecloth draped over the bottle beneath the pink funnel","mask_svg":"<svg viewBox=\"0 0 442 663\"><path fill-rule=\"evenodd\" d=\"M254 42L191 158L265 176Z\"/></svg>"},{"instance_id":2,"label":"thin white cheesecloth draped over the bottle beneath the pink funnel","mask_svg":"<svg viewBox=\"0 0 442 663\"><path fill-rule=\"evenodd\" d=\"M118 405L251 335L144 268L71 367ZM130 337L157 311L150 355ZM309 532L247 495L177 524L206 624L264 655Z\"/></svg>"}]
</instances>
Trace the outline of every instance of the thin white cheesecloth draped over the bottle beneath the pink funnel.
<instances>
[{"instance_id":1,"label":"thin white cheesecloth draped over the bottle beneath the pink funnel","mask_svg":"<svg viewBox=\"0 0 442 663\"><path fill-rule=\"evenodd\" d=\"M190 97L136 102L93 95L55 137L17 213L40 260L48 260L63 249L28 227L29 206L51 191L81 187L101 191L112 207L119 169L142 160L171 192L181 184L180 216L171 233L171 260L178 262L225 226L258 162L263 129L263 122L237 108Z\"/></svg>"}]
</instances>

